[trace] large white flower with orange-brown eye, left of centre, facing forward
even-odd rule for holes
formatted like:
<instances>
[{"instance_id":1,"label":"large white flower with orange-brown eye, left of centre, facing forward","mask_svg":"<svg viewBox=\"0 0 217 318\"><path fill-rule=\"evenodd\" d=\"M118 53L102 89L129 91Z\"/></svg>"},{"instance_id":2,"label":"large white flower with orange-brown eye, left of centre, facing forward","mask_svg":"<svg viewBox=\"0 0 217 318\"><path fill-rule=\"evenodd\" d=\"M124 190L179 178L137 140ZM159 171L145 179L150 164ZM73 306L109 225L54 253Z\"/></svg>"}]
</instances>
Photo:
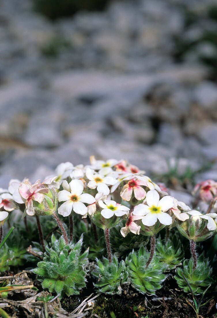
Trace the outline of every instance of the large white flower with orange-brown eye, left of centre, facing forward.
<instances>
[{"instance_id":1,"label":"large white flower with orange-brown eye, left of centre, facing forward","mask_svg":"<svg viewBox=\"0 0 217 318\"><path fill-rule=\"evenodd\" d=\"M84 190L84 184L81 180L73 179L69 184L71 192L62 190L58 193L59 202L65 201L58 208L58 213L65 216L70 215L72 210L84 215L88 212L88 208L84 203L92 204L95 199L88 193L82 193Z\"/></svg>"}]
</instances>

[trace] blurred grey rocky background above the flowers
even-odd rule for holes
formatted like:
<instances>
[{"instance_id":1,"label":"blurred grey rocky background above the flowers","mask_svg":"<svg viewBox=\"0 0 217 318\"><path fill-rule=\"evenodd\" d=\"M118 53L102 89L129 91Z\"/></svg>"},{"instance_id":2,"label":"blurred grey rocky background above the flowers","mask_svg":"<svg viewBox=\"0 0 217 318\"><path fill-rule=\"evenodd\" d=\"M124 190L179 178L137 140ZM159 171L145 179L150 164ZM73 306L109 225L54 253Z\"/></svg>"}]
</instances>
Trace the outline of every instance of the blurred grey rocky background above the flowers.
<instances>
[{"instance_id":1,"label":"blurred grey rocky background above the flowers","mask_svg":"<svg viewBox=\"0 0 217 318\"><path fill-rule=\"evenodd\" d=\"M0 186L60 162L217 157L217 3L2 0ZM198 179L217 179L217 164Z\"/></svg>"}]
</instances>

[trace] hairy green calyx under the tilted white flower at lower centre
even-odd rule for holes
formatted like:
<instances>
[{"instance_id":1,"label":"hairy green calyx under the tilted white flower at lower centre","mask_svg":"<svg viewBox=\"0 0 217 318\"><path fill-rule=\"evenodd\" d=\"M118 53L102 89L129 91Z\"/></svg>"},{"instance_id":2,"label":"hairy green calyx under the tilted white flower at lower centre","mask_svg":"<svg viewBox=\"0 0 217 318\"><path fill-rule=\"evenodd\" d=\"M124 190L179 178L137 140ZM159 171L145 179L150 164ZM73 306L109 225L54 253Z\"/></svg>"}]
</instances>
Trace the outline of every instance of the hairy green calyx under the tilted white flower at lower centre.
<instances>
[{"instance_id":1,"label":"hairy green calyx under the tilted white flower at lower centre","mask_svg":"<svg viewBox=\"0 0 217 318\"><path fill-rule=\"evenodd\" d=\"M112 227L116 226L123 220L123 217L116 217L114 214L112 218L106 219L101 215L100 210L96 210L95 213L90 216L91 221L101 229L111 229Z\"/></svg>"}]
</instances>

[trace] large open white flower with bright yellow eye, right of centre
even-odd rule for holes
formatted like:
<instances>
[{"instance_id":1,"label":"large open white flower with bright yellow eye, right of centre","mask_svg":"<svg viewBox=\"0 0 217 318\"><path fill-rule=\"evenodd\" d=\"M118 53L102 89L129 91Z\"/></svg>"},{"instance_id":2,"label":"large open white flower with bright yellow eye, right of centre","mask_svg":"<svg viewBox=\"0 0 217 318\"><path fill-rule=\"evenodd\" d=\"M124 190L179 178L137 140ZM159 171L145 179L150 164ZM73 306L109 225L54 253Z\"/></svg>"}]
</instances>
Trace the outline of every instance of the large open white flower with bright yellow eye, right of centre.
<instances>
[{"instance_id":1,"label":"large open white flower with bright yellow eye, right of centre","mask_svg":"<svg viewBox=\"0 0 217 318\"><path fill-rule=\"evenodd\" d=\"M169 214L165 213L172 207L176 206L173 197L165 196L160 199L156 190L150 190L146 194L146 203L138 204L135 206L133 214L138 216L144 216L142 223L147 226L152 226L157 222L157 219L163 225L172 224L173 219Z\"/></svg>"}]
</instances>

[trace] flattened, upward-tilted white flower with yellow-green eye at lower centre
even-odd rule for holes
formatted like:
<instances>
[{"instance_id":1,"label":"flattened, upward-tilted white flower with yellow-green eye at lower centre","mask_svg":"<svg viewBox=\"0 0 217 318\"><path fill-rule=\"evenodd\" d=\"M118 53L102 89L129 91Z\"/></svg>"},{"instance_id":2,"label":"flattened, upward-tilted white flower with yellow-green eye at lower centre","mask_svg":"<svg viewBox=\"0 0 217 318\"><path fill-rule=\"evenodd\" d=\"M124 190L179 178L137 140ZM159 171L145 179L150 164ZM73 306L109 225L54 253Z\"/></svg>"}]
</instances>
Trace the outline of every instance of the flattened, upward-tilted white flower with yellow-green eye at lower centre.
<instances>
[{"instance_id":1,"label":"flattened, upward-tilted white flower with yellow-green eye at lower centre","mask_svg":"<svg viewBox=\"0 0 217 318\"><path fill-rule=\"evenodd\" d=\"M130 210L125 205L121 205L116 203L113 200L105 200L105 203L103 203L102 200L99 200L98 204L103 210L101 211L101 215L104 218L112 218L115 214L117 217L121 217L125 214L128 214L128 211Z\"/></svg>"}]
</instances>

